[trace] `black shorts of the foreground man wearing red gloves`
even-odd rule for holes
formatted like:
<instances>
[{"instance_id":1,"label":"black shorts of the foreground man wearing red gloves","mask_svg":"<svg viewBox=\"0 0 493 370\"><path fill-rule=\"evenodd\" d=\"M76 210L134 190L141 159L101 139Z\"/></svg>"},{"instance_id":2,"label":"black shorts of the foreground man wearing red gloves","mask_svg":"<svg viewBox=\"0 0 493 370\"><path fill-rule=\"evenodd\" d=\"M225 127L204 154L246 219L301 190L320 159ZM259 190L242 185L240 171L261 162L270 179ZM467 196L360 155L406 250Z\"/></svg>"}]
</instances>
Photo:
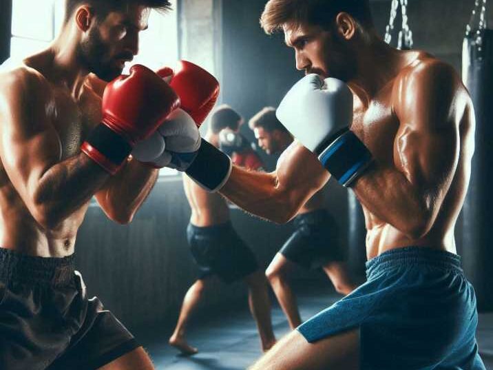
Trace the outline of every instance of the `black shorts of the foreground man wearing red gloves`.
<instances>
[{"instance_id":1,"label":"black shorts of the foreground man wearing red gloves","mask_svg":"<svg viewBox=\"0 0 493 370\"><path fill-rule=\"evenodd\" d=\"M139 347L98 298L87 299L74 256L0 248L0 368L98 369Z\"/></svg>"}]
</instances>

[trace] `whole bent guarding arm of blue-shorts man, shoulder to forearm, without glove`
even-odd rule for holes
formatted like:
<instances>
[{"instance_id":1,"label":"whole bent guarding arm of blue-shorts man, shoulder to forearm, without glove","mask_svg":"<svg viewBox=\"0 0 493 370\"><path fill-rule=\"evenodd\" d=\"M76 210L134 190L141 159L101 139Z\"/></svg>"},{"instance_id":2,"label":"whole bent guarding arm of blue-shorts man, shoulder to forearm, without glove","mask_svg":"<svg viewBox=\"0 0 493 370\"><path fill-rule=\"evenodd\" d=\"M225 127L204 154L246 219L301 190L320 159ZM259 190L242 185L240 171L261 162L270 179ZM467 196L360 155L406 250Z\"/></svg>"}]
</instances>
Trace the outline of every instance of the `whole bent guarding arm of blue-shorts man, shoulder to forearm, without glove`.
<instances>
[{"instance_id":1,"label":"whole bent guarding arm of blue-shorts man, shoulder to forearm, without glove","mask_svg":"<svg viewBox=\"0 0 493 370\"><path fill-rule=\"evenodd\" d=\"M369 212L416 239L431 229L452 182L467 99L452 68L438 61L419 66L396 86L394 165L375 161L354 190Z\"/></svg>"}]
</instances>

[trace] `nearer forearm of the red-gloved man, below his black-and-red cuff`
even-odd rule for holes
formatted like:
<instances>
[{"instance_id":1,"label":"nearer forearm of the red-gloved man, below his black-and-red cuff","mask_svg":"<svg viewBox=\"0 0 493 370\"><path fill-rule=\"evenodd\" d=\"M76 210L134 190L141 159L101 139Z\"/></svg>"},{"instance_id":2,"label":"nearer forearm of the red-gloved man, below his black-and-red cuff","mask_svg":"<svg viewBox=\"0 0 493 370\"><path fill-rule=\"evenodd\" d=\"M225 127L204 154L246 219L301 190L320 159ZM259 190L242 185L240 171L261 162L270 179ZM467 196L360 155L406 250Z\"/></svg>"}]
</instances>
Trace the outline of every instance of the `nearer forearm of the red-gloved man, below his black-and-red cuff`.
<instances>
[{"instance_id":1,"label":"nearer forearm of the red-gloved man, below his black-and-red cuff","mask_svg":"<svg viewBox=\"0 0 493 370\"><path fill-rule=\"evenodd\" d=\"M85 154L57 163L32 184L31 212L41 225L53 228L85 205L109 174Z\"/></svg>"}]
</instances>

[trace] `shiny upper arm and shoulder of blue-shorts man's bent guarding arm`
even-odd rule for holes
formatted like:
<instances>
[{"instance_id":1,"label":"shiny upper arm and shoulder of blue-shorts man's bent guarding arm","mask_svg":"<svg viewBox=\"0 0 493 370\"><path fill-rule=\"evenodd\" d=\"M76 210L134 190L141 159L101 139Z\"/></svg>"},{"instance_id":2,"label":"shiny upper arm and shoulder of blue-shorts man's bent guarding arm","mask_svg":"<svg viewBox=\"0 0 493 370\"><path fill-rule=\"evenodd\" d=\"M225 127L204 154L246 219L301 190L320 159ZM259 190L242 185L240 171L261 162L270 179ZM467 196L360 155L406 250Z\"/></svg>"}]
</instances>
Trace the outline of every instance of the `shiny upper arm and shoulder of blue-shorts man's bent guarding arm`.
<instances>
[{"instance_id":1,"label":"shiny upper arm and shoulder of blue-shorts man's bent guarding arm","mask_svg":"<svg viewBox=\"0 0 493 370\"><path fill-rule=\"evenodd\" d=\"M394 156L408 181L439 191L450 185L459 161L457 88L447 71L431 70L410 78L396 110L400 121Z\"/></svg>"}]
</instances>

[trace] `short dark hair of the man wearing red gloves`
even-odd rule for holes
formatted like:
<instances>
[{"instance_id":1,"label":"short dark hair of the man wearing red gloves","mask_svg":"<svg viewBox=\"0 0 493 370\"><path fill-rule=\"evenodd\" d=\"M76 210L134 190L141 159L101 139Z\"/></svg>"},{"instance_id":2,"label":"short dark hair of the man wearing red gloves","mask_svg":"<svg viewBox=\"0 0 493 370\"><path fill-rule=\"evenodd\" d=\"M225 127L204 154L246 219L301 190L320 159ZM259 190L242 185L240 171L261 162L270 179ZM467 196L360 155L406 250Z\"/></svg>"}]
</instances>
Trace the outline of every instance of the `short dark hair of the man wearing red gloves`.
<instances>
[{"instance_id":1,"label":"short dark hair of the man wearing red gloves","mask_svg":"<svg viewBox=\"0 0 493 370\"><path fill-rule=\"evenodd\" d=\"M132 5L147 6L147 8L165 12L171 10L169 0L65 0L65 20L64 23L72 17L78 6L87 4L94 8L96 17L105 18L109 12L125 10Z\"/></svg>"}]
</instances>

